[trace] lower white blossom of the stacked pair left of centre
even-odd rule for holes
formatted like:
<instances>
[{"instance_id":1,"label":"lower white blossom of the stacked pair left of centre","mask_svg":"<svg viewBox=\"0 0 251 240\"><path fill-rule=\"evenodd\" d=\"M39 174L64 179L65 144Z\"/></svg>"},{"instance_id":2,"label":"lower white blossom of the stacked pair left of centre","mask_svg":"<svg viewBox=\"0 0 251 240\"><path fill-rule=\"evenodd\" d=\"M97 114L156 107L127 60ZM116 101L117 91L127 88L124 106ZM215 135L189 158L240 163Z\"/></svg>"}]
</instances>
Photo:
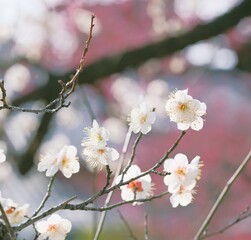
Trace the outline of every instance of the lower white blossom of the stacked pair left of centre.
<instances>
[{"instance_id":1,"label":"lower white blossom of the stacked pair left of centre","mask_svg":"<svg viewBox=\"0 0 251 240\"><path fill-rule=\"evenodd\" d=\"M119 158L119 153L114 148L102 146L89 146L83 150L86 162L93 168L102 170L103 166Z\"/></svg>"}]
</instances>

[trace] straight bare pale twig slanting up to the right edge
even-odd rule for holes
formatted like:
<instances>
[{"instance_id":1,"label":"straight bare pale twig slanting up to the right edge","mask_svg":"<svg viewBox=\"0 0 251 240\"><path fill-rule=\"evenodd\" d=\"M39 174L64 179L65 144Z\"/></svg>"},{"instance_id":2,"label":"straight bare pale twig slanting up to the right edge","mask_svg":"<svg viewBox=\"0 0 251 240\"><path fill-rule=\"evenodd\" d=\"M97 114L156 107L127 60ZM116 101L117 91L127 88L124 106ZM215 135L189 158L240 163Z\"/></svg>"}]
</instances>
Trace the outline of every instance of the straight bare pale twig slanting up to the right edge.
<instances>
[{"instance_id":1,"label":"straight bare pale twig slanting up to the right edge","mask_svg":"<svg viewBox=\"0 0 251 240\"><path fill-rule=\"evenodd\" d=\"M206 235L206 229L207 229L211 219L213 218L216 210L221 205L221 203L223 202L224 197L226 196L227 192L231 188L232 184L234 183L234 181L236 180L238 175L242 172L242 170L245 168L245 166L250 161L250 159L251 159L251 150L248 153L248 155L245 157L243 162L240 164L240 166L237 168L237 170L235 171L233 176L228 180L227 184L223 188L222 192L220 193L218 199L216 200L213 207L211 208L211 210L210 210L209 214L207 215L206 219L202 223L199 231L196 233L196 235L194 237L194 240L198 240L198 239L200 239L200 237L203 237L204 235Z\"/></svg>"}]
</instances>

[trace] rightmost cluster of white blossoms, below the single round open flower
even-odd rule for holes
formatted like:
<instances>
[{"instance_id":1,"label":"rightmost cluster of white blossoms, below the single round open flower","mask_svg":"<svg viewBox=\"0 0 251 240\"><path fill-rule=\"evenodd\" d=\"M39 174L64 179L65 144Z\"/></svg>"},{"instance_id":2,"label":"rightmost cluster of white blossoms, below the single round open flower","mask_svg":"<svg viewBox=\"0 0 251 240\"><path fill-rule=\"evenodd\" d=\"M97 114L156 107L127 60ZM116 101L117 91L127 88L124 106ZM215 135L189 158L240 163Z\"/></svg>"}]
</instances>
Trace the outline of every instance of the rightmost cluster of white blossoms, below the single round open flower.
<instances>
[{"instance_id":1,"label":"rightmost cluster of white blossoms, below the single round open flower","mask_svg":"<svg viewBox=\"0 0 251 240\"><path fill-rule=\"evenodd\" d=\"M168 173L164 177L164 183L172 194L170 202L174 208L191 203L196 180L200 178L201 166L199 156L189 163L187 156L181 153L164 162L164 171Z\"/></svg>"}]
</instances>

